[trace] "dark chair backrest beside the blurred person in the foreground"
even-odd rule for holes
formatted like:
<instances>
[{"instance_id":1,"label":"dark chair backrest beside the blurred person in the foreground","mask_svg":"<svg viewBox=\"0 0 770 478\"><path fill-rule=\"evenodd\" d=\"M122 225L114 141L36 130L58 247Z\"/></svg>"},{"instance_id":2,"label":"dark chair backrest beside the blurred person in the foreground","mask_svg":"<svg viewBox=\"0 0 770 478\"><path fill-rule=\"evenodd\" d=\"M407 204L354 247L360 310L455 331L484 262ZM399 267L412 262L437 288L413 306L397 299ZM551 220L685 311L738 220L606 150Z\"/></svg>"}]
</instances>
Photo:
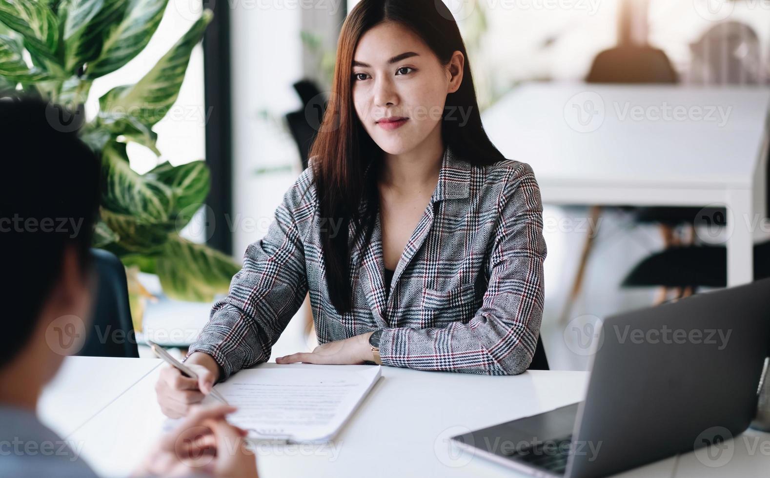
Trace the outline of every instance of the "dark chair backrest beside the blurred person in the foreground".
<instances>
[{"instance_id":1,"label":"dark chair backrest beside the blurred person in the foreground","mask_svg":"<svg viewBox=\"0 0 770 478\"><path fill-rule=\"evenodd\" d=\"M91 254L99 279L94 296L93 323L78 355L138 358L126 269L112 252L91 249Z\"/></svg>"}]
</instances>

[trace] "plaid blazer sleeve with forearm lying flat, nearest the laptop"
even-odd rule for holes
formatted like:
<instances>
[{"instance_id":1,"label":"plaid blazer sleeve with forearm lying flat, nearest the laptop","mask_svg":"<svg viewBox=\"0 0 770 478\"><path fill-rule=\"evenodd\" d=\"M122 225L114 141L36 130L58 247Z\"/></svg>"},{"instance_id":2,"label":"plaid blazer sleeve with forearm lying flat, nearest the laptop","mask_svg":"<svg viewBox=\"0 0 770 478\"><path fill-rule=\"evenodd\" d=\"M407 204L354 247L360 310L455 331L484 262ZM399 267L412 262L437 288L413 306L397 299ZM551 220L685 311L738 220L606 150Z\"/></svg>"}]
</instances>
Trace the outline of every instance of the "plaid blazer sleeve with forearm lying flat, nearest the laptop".
<instances>
[{"instance_id":1,"label":"plaid blazer sleeve with forearm lying flat, nearest the laptop","mask_svg":"<svg viewBox=\"0 0 770 478\"><path fill-rule=\"evenodd\" d=\"M543 206L526 163L511 169L503 191L481 308L467 323L444 328L383 329L383 365L483 375L527 370L543 316Z\"/></svg>"}]
</instances>

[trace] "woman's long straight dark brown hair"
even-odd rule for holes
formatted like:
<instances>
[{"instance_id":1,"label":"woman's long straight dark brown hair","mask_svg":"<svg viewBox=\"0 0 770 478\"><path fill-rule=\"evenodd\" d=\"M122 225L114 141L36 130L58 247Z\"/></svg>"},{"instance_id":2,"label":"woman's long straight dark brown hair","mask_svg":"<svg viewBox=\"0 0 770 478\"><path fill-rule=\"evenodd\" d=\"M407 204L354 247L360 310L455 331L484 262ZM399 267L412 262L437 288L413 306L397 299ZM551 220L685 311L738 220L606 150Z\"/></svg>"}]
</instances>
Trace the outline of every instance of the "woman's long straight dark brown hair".
<instances>
[{"instance_id":1,"label":"woman's long straight dark brown hair","mask_svg":"<svg viewBox=\"0 0 770 478\"><path fill-rule=\"evenodd\" d=\"M310 149L313 183L319 199L319 215L340 227L322 227L326 284L340 314L352 306L350 247L364 235L371 238L380 206L376 176L365 175L370 162L380 162L383 151L363 129L353 106L353 53L361 36L381 22L398 22L415 32L447 65L452 54L465 57L463 80L447 95L441 137L454 155L471 164L490 164L504 159L481 126L470 62L460 30L441 0L362 0L347 15L337 42L336 65L323 122ZM458 111L463 112L462 121ZM372 168L371 171L376 170ZM349 226L355 233L350 241ZM334 231L337 231L335 234Z\"/></svg>"}]
</instances>

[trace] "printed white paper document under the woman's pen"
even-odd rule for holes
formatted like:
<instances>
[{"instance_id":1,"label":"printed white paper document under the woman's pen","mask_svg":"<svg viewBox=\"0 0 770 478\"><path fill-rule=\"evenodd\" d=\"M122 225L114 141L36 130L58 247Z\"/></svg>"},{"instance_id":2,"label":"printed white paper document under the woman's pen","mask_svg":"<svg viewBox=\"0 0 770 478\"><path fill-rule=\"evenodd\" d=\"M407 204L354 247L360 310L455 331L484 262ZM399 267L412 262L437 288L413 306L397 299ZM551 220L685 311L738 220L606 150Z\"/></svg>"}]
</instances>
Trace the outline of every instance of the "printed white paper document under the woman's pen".
<instances>
[{"instance_id":1,"label":"printed white paper document under the woman's pen","mask_svg":"<svg viewBox=\"0 0 770 478\"><path fill-rule=\"evenodd\" d=\"M253 440L328 442L367 396L380 366L264 363L215 386ZM206 397L204 403L216 403Z\"/></svg>"}]
</instances>

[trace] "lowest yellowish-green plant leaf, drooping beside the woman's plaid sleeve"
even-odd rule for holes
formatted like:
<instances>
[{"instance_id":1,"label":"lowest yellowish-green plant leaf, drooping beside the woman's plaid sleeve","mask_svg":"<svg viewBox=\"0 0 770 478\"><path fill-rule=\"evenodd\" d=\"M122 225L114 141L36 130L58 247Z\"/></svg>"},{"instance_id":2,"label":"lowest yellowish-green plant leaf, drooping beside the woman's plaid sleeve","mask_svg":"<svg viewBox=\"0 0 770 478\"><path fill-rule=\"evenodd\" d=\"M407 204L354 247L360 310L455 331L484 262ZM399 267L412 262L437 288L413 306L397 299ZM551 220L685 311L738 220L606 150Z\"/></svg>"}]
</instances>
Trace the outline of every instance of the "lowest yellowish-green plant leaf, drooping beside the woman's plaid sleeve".
<instances>
[{"instance_id":1,"label":"lowest yellowish-green plant leaf, drooping beside the woman's plaid sleeve","mask_svg":"<svg viewBox=\"0 0 770 478\"><path fill-rule=\"evenodd\" d=\"M156 273L171 299L211 302L226 293L239 266L222 252L172 236L156 258Z\"/></svg>"}]
</instances>

